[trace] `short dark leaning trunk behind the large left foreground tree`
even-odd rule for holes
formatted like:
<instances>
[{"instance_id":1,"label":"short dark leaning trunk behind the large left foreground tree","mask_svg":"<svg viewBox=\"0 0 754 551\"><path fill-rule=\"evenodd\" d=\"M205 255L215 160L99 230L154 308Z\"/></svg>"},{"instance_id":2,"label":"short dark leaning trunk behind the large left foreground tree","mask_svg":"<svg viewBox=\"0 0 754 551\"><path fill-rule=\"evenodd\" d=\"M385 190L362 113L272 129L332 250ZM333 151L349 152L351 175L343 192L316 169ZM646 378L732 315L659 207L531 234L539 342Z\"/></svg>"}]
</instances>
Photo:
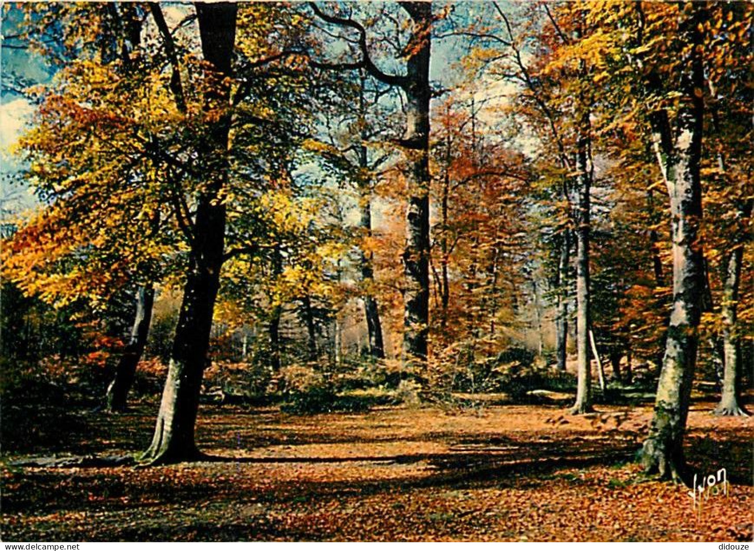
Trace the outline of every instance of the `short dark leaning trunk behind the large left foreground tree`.
<instances>
[{"instance_id":1,"label":"short dark leaning trunk behind the large left foreground tree","mask_svg":"<svg viewBox=\"0 0 754 551\"><path fill-rule=\"evenodd\" d=\"M146 347L154 304L155 289L152 285L140 286L136 291L136 314L130 338L118 366L115 367L115 378L107 388L107 409L111 412L122 412L126 409L128 392L136 376L136 366L139 365Z\"/></svg>"}]
</instances>

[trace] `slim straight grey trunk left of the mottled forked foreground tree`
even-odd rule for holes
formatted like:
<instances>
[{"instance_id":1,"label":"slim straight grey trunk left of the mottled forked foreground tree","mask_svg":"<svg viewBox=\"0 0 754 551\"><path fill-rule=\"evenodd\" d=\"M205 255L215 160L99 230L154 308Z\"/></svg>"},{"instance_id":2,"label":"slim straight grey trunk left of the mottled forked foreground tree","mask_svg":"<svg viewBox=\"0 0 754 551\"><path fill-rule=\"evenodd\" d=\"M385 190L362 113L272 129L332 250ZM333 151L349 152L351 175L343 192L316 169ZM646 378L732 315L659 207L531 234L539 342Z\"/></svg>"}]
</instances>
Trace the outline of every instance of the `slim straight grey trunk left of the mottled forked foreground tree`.
<instances>
[{"instance_id":1,"label":"slim straight grey trunk left of the mottled forked foreground tree","mask_svg":"<svg viewBox=\"0 0 754 551\"><path fill-rule=\"evenodd\" d=\"M579 124L576 162L578 168L578 229L576 231L576 354L578 383L576 403L571 409L578 415L592 411L592 372L589 357L590 294L589 294L589 239L590 239L590 121L585 109Z\"/></svg>"}]
</instances>

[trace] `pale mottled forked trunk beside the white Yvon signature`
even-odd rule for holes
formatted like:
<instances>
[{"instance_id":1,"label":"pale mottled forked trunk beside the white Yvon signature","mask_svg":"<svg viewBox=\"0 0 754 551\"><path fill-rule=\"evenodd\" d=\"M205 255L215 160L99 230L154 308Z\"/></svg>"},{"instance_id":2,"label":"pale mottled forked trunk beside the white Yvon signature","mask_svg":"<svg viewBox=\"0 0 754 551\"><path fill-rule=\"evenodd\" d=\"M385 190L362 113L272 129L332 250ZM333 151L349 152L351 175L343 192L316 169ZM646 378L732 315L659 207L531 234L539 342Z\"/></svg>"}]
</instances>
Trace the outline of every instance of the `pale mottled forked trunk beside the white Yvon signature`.
<instances>
[{"instance_id":1,"label":"pale mottled forked trunk beside the white Yvon signature","mask_svg":"<svg viewBox=\"0 0 754 551\"><path fill-rule=\"evenodd\" d=\"M704 8L694 10L694 15L682 23L691 45L690 59L685 60L682 91L691 99L686 99L677 115L676 138L673 139L667 111L658 109L649 117L652 142L670 195L673 309L657 384L654 418L642 448L642 464L648 473L657 472L673 480L686 478L683 436L694 380L704 290L704 263L698 240L702 216L700 159L704 112L699 48L703 41L697 29ZM655 86L659 88L659 83Z\"/></svg>"}]
</instances>

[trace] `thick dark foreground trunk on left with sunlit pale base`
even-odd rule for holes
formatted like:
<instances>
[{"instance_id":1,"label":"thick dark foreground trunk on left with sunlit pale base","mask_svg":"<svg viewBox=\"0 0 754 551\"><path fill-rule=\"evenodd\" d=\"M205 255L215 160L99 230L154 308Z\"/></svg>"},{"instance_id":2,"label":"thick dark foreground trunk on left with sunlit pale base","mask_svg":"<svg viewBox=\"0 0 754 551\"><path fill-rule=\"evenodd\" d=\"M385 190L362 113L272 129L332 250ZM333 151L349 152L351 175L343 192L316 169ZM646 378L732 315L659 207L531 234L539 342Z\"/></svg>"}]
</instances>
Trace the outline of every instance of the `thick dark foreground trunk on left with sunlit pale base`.
<instances>
[{"instance_id":1,"label":"thick dark foreground trunk on left with sunlit pale base","mask_svg":"<svg viewBox=\"0 0 754 551\"><path fill-rule=\"evenodd\" d=\"M219 77L207 93L207 109L223 109L230 96L223 78L231 75L238 6L199 3L196 11L204 60L216 73L213 76ZM155 435L143 455L143 461L151 464L187 461L200 455L194 433L222 268L225 205L219 197L228 179L230 123L228 113L220 115L208 129L202 146L199 160L206 165L207 184L197 201L189 273Z\"/></svg>"}]
</instances>

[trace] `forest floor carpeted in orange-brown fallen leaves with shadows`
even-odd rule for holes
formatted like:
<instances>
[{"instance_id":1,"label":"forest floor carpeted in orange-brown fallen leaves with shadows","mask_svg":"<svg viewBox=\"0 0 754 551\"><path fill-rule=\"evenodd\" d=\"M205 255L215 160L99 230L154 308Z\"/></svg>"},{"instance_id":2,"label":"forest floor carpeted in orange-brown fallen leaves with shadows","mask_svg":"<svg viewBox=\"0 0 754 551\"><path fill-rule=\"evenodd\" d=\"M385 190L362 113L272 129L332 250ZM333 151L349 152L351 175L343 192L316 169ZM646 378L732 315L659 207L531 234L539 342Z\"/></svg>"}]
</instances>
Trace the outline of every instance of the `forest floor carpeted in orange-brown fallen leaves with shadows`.
<instances>
[{"instance_id":1,"label":"forest floor carpeted in orange-brown fallen leaves with shadows","mask_svg":"<svg viewBox=\"0 0 754 551\"><path fill-rule=\"evenodd\" d=\"M699 479L725 468L731 485L727 497L707 491L700 515L688 488L633 463L650 406L588 418L556 406L202 406L198 443L216 461L14 467L146 448L157 404L40 417L23 441L4 440L2 540L750 541L754 420L712 407L692 405L688 459Z\"/></svg>"}]
</instances>

